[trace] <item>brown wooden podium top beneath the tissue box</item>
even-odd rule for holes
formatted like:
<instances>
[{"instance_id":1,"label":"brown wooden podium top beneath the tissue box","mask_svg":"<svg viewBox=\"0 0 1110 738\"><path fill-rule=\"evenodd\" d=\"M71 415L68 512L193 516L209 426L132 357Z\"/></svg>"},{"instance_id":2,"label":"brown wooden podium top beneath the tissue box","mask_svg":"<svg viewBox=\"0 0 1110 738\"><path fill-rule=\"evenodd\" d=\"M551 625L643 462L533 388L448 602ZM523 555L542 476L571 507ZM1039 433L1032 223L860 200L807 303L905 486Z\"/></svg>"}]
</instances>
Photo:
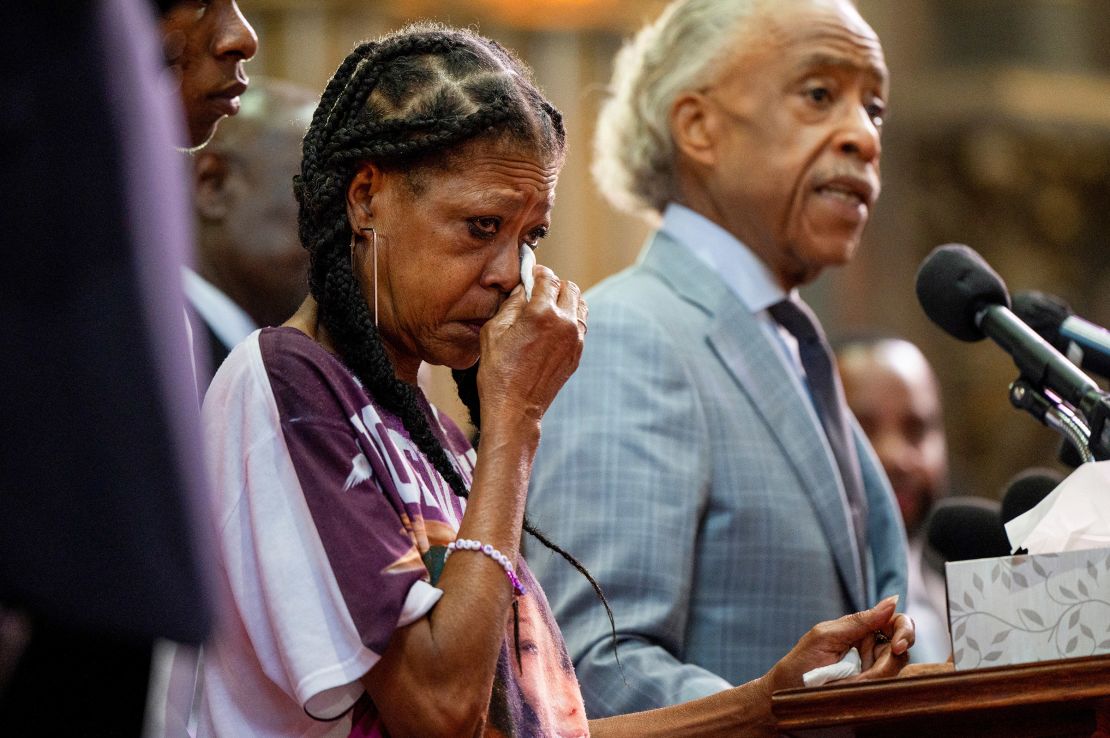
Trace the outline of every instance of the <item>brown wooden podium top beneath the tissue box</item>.
<instances>
[{"instance_id":1,"label":"brown wooden podium top beneath the tissue box","mask_svg":"<svg viewBox=\"0 0 1110 738\"><path fill-rule=\"evenodd\" d=\"M786 736L1110 738L1110 656L787 689L771 705Z\"/></svg>"}]
</instances>

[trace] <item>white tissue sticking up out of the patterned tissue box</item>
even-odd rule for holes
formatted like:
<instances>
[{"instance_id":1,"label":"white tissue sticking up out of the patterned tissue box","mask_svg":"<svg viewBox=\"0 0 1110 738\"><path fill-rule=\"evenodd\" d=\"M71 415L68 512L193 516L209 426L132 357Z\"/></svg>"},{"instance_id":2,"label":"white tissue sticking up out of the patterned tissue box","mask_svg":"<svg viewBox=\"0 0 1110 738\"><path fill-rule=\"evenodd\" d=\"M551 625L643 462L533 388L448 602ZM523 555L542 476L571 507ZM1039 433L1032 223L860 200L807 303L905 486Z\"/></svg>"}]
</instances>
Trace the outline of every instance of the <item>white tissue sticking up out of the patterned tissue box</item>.
<instances>
[{"instance_id":1,"label":"white tissue sticking up out of the patterned tissue box","mask_svg":"<svg viewBox=\"0 0 1110 738\"><path fill-rule=\"evenodd\" d=\"M1006 524L1013 548L1030 554L1110 546L1110 462L1072 472L1031 510Z\"/></svg>"}]
</instances>

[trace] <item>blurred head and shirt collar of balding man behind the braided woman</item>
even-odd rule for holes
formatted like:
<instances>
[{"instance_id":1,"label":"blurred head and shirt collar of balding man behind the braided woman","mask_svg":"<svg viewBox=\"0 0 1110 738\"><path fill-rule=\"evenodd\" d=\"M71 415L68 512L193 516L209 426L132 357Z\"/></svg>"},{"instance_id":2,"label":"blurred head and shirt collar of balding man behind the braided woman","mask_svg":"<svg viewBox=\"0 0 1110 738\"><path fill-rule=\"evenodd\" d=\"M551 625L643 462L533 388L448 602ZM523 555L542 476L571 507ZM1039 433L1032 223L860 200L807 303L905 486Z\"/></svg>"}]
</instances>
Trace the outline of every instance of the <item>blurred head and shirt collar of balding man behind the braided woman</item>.
<instances>
[{"instance_id":1,"label":"blurred head and shirt collar of balding man behind the braided woman","mask_svg":"<svg viewBox=\"0 0 1110 738\"><path fill-rule=\"evenodd\" d=\"M315 104L306 88L255 78L239 114L193 155L196 271L185 270L184 290L196 347L213 371L252 331L289 319L309 292L290 182Z\"/></svg>"}]
</instances>

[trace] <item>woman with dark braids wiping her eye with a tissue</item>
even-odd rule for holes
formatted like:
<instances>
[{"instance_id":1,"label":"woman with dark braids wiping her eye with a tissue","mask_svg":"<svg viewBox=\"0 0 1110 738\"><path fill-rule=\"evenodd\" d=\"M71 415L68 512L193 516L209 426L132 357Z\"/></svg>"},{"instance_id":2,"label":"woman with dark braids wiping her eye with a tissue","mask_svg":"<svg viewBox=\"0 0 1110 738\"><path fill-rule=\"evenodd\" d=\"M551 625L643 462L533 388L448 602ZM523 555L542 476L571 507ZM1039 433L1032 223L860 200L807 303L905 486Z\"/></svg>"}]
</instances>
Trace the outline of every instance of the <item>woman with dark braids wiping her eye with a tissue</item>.
<instances>
[{"instance_id":1,"label":"woman with dark braids wiping her eye with a tissue","mask_svg":"<svg viewBox=\"0 0 1110 738\"><path fill-rule=\"evenodd\" d=\"M587 724L519 556L541 421L586 333L573 282L536 266L531 299L521 284L564 145L528 70L471 32L363 43L327 84L294 182L311 294L235 348L204 403L229 607L200 735L770 729L771 691L851 645L865 677L897 671L912 626L884 603L731 691ZM475 452L416 372L480 356Z\"/></svg>"}]
</instances>

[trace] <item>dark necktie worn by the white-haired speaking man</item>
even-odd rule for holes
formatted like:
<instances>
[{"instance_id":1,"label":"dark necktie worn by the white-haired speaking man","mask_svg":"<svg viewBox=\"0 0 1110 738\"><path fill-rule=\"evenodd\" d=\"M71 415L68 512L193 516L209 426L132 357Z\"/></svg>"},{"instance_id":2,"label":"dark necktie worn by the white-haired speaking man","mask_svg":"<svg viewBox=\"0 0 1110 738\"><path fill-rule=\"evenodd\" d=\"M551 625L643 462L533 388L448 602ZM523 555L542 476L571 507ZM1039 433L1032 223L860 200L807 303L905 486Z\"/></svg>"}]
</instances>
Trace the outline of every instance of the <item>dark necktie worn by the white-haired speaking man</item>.
<instances>
[{"instance_id":1,"label":"dark necktie worn by the white-haired speaking man","mask_svg":"<svg viewBox=\"0 0 1110 738\"><path fill-rule=\"evenodd\" d=\"M771 305L768 311L771 317L798 341L798 353L801 356L801 366L806 370L809 395L813 397L817 415L825 428L825 436L840 469L856 543L859 546L860 563L866 567L862 563L867 562L867 497L864 492L862 474L859 471L859 457L856 455L856 444L852 441L851 425L848 422L848 404L844 397L840 377L833 364L833 350L829 348L820 323L806 303L800 300L784 300Z\"/></svg>"}]
</instances>

